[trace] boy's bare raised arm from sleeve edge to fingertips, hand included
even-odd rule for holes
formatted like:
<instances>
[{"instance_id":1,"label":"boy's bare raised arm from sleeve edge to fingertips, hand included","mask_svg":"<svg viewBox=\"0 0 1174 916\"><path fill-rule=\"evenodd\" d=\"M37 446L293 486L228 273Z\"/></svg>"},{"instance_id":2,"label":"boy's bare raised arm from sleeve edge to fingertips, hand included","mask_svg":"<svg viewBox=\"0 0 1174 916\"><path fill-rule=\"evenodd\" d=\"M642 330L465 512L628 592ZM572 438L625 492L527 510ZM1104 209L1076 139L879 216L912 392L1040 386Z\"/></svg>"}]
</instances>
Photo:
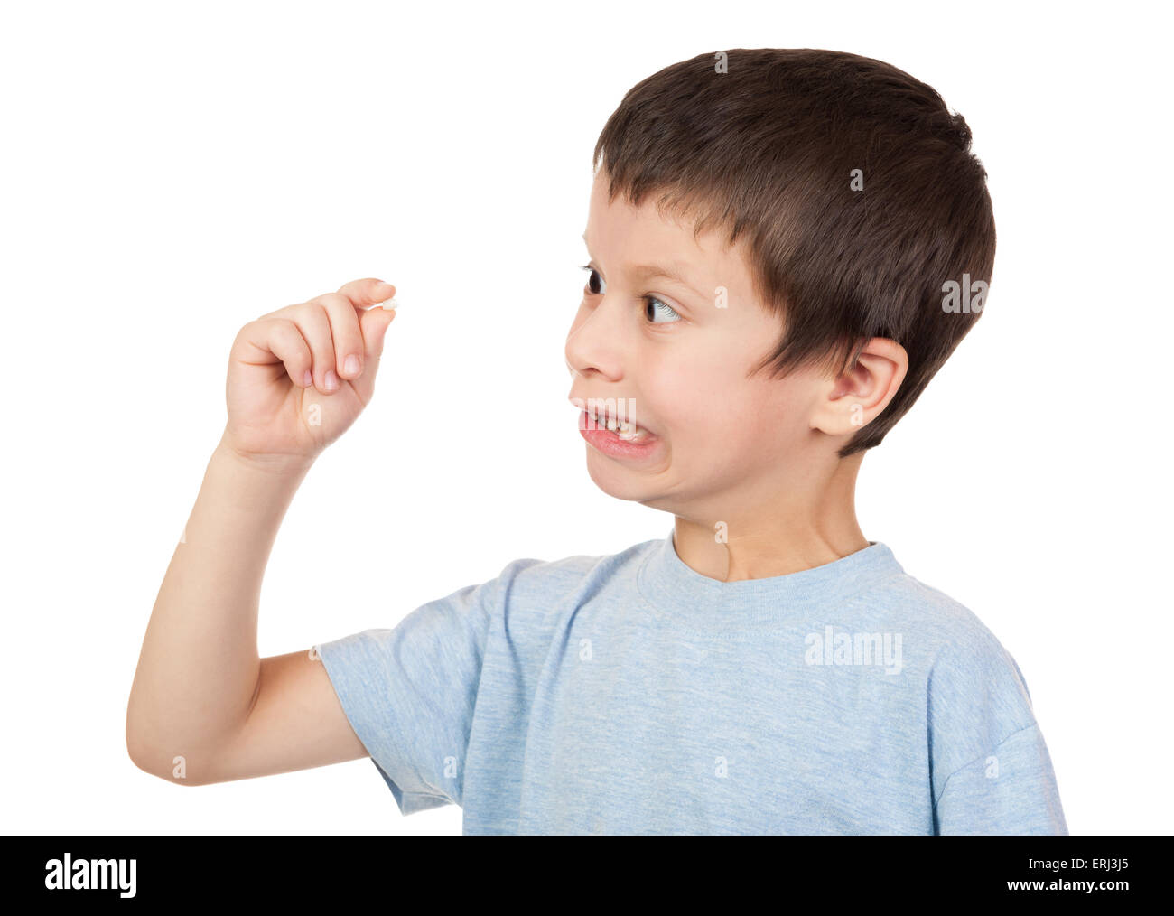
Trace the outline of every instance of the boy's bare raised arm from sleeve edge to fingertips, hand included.
<instances>
[{"instance_id":1,"label":"boy's bare raised arm from sleeve edge to fingertips, hand included","mask_svg":"<svg viewBox=\"0 0 1174 916\"><path fill-rule=\"evenodd\" d=\"M394 288L367 278L241 329L228 424L151 611L127 705L141 769L178 784L366 754L310 649L261 659L265 564L313 460L371 400Z\"/></svg>"}]
</instances>

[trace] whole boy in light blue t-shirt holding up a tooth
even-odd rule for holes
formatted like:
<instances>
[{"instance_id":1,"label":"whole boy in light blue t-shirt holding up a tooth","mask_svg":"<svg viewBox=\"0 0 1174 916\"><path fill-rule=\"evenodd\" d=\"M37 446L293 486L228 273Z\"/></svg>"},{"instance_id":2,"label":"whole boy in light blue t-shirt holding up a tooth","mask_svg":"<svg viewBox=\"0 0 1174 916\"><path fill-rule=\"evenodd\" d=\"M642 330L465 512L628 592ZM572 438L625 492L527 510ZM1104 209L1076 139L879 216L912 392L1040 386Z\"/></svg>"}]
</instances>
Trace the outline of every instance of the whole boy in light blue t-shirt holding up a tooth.
<instances>
[{"instance_id":1,"label":"whole boy in light blue t-shirt holding up a tooth","mask_svg":"<svg viewBox=\"0 0 1174 916\"><path fill-rule=\"evenodd\" d=\"M736 49L635 86L593 161L569 398L592 479L668 537L258 659L265 558L371 397L394 290L272 312L232 349L134 761L203 784L370 754L404 814L457 803L466 834L1066 833L1018 666L853 508L991 277L963 119L880 61Z\"/></svg>"}]
</instances>

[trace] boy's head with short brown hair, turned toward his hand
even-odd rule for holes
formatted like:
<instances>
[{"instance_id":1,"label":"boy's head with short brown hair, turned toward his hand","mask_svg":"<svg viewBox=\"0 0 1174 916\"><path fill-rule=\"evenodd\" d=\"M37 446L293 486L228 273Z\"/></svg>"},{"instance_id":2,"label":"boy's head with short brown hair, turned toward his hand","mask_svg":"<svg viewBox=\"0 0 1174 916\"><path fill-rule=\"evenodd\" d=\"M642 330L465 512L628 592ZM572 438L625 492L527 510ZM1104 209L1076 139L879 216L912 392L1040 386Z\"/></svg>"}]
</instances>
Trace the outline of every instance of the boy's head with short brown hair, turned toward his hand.
<instances>
[{"instance_id":1,"label":"boy's head with short brown hair, turned toward his hand","mask_svg":"<svg viewBox=\"0 0 1174 916\"><path fill-rule=\"evenodd\" d=\"M627 399L659 439L596 465L614 485L623 469L681 496L823 473L879 444L978 318L986 173L962 116L888 63L770 48L675 63L627 93L593 163L572 397Z\"/></svg>"}]
</instances>

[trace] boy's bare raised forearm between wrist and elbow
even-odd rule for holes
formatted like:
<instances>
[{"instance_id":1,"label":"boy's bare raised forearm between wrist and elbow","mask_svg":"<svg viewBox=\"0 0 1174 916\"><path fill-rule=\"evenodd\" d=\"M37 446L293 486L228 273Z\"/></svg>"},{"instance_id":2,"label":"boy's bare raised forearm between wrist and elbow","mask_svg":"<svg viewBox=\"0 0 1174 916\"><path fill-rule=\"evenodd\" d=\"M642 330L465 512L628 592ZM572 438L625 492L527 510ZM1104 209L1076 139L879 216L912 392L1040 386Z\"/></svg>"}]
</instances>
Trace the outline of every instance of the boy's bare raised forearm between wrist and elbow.
<instances>
[{"instance_id":1,"label":"boy's bare raised forearm between wrist and elbow","mask_svg":"<svg viewBox=\"0 0 1174 916\"><path fill-rule=\"evenodd\" d=\"M258 683L265 564L309 462L263 465L222 440L151 611L127 707L127 745L151 772L202 769Z\"/></svg>"}]
</instances>

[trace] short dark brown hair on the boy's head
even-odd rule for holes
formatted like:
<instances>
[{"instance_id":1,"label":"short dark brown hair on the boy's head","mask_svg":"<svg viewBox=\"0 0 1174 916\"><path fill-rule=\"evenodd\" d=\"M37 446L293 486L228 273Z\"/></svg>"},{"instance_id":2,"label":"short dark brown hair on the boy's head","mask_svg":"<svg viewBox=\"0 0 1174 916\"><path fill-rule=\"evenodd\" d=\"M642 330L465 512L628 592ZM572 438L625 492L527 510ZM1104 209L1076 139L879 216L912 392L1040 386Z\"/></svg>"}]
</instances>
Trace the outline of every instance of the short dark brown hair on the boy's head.
<instances>
[{"instance_id":1,"label":"short dark brown hair on the boy's head","mask_svg":"<svg viewBox=\"0 0 1174 916\"><path fill-rule=\"evenodd\" d=\"M883 61L735 48L636 83L592 166L602 156L609 201L655 194L662 213L696 221L695 235L747 236L755 292L785 328L754 372L818 359L841 371L872 337L905 348L904 382L848 456L880 443L979 316L977 304L943 308L943 284L965 274L989 284L994 265L986 170L970 141L933 88Z\"/></svg>"}]
</instances>

